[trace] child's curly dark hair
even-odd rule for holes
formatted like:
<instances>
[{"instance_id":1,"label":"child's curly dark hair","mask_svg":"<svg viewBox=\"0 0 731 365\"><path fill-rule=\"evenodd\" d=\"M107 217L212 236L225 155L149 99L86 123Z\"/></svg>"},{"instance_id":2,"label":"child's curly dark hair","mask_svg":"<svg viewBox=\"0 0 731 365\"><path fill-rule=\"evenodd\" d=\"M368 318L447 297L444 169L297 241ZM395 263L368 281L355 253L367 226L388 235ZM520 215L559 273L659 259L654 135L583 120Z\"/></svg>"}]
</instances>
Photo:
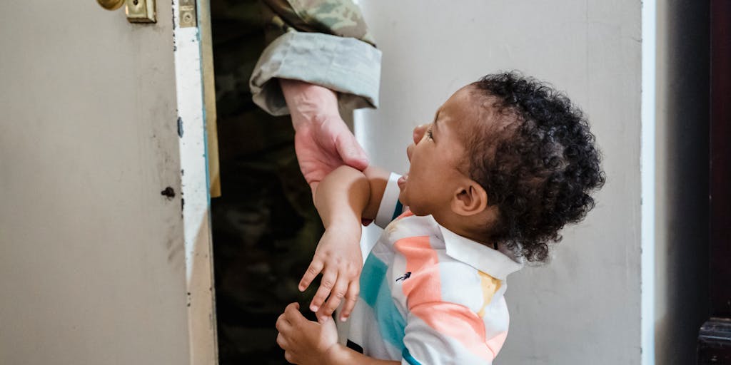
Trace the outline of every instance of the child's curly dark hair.
<instances>
[{"instance_id":1,"label":"child's curly dark hair","mask_svg":"<svg viewBox=\"0 0 731 365\"><path fill-rule=\"evenodd\" d=\"M471 179L498 207L490 238L548 261L548 244L586 216L605 183L594 134L567 96L534 78L489 74L471 88L497 119L486 124L502 126L471 134L466 146Z\"/></svg>"}]
</instances>

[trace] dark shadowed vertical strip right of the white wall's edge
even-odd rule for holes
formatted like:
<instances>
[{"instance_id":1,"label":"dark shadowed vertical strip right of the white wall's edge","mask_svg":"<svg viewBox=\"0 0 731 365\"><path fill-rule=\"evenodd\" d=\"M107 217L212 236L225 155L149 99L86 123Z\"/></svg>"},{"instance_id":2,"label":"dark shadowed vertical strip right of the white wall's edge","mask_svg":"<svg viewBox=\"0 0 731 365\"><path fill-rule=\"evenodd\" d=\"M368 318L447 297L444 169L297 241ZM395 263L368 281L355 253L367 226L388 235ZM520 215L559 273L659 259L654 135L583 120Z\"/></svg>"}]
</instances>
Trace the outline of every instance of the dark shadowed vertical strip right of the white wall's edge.
<instances>
[{"instance_id":1,"label":"dark shadowed vertical strip right of the white wall's edge","mask_svg":"<svg viewBox=\"0 0 731 365\"><path fill-rule=\"evenodd\" d=\"M695 364L708 318L709 5L658 3L656 364Z\"/></svg>"}]
</instances>

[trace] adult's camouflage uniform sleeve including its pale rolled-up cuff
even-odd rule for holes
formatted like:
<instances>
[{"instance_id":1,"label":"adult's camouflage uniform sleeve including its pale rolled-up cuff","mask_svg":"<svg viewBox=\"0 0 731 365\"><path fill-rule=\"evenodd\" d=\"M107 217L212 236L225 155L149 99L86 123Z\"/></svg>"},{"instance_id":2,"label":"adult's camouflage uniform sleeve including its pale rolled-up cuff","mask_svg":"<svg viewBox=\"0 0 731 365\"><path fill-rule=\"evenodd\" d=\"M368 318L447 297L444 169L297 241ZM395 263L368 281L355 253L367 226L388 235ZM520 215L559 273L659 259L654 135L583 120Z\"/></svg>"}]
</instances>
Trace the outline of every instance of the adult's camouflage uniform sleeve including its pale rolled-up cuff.
<instances>
[{"instance_id":1,"label":"adult's camouflage uniform sleeve including its pale rolled-up cuff","mask_svg":"<svg viewBox=\"0 0 731 365\"><path fill-rule=\"evenodd\" d=\"M264 0L268 39L249 88L272 115L289 114L276 78L337 91L349 110L378 106L381 52L351 0Z\"/></svg>"}]
</instances>

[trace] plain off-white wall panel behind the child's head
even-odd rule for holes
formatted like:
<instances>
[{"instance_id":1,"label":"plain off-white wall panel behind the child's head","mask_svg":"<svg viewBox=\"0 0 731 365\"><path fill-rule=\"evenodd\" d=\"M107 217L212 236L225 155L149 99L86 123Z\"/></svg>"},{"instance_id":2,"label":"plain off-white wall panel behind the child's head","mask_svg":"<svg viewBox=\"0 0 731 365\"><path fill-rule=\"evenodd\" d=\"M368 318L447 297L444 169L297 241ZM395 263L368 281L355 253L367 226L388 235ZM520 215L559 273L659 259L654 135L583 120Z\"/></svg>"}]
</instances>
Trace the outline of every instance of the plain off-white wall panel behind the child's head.
<instances>
[{"instance_id":1,"label":"plain off-white wall panel behind the child's head","mask_svg":"<svg viewBox=\"0 0 731 365\"><path fill-rule=\"evenodd\" d=\"M403 172L413 126L483 74L518 69L588 115L607 184L555 258L510 277L496 364L640 364L640 1L361 1L383 51L381 107L358 112L374 164ZM372 232L371 232L372 234Z\"/></svg>"}]
</instances>

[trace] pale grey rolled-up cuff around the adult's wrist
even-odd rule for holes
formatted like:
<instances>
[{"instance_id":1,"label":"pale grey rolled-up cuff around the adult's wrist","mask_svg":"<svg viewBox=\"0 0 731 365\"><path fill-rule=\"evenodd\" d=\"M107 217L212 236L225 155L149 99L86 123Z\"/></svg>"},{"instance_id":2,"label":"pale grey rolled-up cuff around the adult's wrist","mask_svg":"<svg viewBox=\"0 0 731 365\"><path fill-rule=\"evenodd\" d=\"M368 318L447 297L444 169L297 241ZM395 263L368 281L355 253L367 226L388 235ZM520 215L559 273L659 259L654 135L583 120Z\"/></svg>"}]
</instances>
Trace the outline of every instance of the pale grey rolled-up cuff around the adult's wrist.
<instances>
[{"instance_id":1,"label":"pale grey rolled-up cuff around the adult's wrist","mask_svg":"<svg viewBox=\"0 0 731 365\"><path fill-rule=\"evenodd\" d=\"M271 115L287 115L276 78L300 80L341 93L346 109L378 107L381 51L355 38L290 31L262 53L249 80L254 103Z\"/></svg>"}]
</instances>

